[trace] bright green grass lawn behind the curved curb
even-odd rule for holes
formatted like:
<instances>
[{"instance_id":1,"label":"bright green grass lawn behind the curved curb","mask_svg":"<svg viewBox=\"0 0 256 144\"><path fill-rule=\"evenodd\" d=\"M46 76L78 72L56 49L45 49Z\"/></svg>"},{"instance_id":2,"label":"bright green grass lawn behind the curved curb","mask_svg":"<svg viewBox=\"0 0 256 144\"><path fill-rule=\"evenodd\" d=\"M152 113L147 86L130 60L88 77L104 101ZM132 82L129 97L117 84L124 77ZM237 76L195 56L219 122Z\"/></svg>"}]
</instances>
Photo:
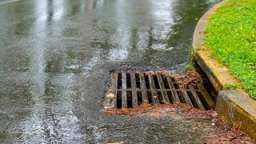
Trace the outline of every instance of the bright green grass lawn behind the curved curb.
<instances>
[{"instance_id":1,"label":"bright green grass lawn behind the curved curb","mask_svg":"<svg viewBox=\"0 0 256 144\"><path fill-rule=\"evenodd\" d=\"M256 99L256 0L230 0L210 18L206 47Z\"/></svg>"}]
</instances>

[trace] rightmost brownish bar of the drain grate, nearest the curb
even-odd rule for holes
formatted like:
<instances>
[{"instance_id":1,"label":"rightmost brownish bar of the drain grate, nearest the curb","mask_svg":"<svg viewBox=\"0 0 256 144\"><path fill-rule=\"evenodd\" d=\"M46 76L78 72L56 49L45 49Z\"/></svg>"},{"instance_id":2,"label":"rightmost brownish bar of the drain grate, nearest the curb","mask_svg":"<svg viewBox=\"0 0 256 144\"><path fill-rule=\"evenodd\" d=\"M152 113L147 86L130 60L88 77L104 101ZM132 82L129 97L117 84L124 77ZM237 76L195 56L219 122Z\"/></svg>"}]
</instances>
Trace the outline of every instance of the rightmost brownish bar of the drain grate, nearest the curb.
<instances>
[{"instance_id":1,"label":"rightmost brownish bar of the drain grate, nearest the curb","mask_svg":"<svg viewBox=\"0 0 256 144\"><path fill-rule=\"evenodd\" d=\"M205 86L202 85L202 82L198 83L198 89L202 91L202 96L206 101L207 106L210 110L214 110L215 103L212 98L210 98L210 94L207 92Z\"/></svg>"}]
</instances>

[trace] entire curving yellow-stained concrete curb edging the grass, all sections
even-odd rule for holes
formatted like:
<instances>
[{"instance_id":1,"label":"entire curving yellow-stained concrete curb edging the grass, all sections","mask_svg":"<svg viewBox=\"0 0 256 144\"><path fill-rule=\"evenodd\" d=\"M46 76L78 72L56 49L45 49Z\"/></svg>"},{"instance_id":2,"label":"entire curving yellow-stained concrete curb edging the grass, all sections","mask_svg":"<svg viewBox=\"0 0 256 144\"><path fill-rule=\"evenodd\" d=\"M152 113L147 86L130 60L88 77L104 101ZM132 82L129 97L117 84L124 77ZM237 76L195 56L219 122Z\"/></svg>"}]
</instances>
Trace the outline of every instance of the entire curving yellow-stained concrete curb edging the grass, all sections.
<instances>
[{"instance_id":1,"label":"entire curving yellow-stained concrete curb edging the grass, all sections","mask_svg":"<svg viewBox=\"0 0 256 144\"><path fill-rule=\"evenodd\" d=\"M239 81L230 74L226 66L222 66L211 57L210 50L203 46L205 30L210 15L218 10L227 0L223 0L208 10L198 21L193 35L194 60L210 79L218 91L216 110L219 116L230 126L238 128L256 139L256 101L242 90L225 90L228 85L238 85Z\"/></svg>"}]
</instances>

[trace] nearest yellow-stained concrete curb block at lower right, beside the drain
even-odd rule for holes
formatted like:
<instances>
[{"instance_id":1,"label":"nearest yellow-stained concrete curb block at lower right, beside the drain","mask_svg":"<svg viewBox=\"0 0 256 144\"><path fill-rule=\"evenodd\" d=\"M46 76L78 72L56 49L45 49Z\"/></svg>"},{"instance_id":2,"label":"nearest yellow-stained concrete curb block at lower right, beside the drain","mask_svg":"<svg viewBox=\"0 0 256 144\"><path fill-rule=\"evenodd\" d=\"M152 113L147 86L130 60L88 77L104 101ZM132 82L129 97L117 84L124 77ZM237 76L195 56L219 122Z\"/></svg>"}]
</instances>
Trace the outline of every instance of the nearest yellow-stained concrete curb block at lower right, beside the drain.
<instances>
[{"instance_id":1,"label":"nearest yellow-stained concrete curb block at lower right, beside the drain","mask_svg":"<svg viewBox=\"0 0 256 144\"><path fill-rule=\"evenodd\" d=\"M230 126L239 128L256 139L256 101L239 90L221 90L216 110Z\"/></svg>"}]
</instances>

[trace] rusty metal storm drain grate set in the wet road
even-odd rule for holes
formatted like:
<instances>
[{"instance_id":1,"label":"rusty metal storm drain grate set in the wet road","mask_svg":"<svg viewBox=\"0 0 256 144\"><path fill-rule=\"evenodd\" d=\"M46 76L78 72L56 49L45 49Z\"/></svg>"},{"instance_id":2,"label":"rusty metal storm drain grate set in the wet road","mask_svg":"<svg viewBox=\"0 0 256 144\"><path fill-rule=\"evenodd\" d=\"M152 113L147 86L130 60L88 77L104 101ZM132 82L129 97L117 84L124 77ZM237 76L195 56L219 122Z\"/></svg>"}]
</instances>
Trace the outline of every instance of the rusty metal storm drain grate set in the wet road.
<instances>
[{"instance_id":1,"label":"rusty metal storm drain grate set in the wet road","mask_svg":"<svg viewBox=\"0 0 256 144\"><path fill-rule=\"evenodd\" d=\"M114 94L113 106L134 108L142 103L186 103L201 110L213 110L214 101L202 82L195 86L178 86L171 72L112 72L108 94Z\"/></svg>"}]
</instances>

